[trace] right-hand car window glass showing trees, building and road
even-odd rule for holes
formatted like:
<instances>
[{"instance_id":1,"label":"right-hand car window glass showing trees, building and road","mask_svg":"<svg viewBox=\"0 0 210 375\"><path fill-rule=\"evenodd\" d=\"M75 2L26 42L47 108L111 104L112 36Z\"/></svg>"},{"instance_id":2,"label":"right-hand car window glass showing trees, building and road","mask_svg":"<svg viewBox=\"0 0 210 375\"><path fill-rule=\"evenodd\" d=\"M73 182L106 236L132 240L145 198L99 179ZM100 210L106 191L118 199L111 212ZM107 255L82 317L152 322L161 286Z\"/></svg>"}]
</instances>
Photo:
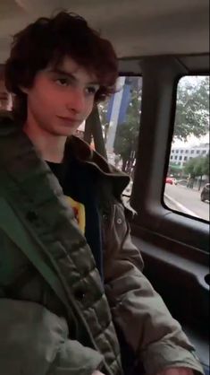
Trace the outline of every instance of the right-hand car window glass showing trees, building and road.
<instances>
[{"instance_id":1,"label":"right-hand car window glass showing trees, building and road","mask_svg":"<svg viewBox=\"0 0 210 375\"><path fill-rule=\"evenodd\" d=\"M178 155L170 157L164 204L209 221L209 76L185 76L178 83L173 153Z\"/></svg>"}]
</instances>

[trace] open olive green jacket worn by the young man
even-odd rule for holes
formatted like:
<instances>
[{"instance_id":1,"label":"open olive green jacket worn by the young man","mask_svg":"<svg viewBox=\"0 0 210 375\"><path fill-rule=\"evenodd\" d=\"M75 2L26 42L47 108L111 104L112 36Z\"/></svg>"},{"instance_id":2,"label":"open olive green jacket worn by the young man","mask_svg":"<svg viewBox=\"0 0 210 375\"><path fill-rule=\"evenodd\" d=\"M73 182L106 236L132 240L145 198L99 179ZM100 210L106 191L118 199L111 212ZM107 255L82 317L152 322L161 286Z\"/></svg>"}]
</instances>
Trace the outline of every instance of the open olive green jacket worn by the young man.
<instances>
[{"instance_id":1,"label":"open olive green jacket worn by the young man","mask_svg":"<svg viewBox=\"0 0 210 375\"><path fill-rule=\"evenodd\" d=\"M13 120L0 120L1 373L122 375L118 335L147 374L202 372L142 274L120 201L128 177L80 139L68 147L100 176L105 283L57 179Z\"/></svg>"}]
</instances>

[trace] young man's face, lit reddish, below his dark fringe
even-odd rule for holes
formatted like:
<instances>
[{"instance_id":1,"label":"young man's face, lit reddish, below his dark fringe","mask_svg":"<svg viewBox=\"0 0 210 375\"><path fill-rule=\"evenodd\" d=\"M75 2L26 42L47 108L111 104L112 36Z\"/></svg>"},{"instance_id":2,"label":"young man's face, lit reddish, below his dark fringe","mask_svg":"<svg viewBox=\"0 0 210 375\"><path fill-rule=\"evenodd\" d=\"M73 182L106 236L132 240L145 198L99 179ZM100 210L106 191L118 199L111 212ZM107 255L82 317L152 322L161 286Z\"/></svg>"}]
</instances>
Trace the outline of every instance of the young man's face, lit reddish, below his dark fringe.
<instances>
[{"instance_id":1,"label":"young man's face, lit reddish, below his dark fringe","mask_svg":"<svg viewBox=\"0 0 210 375\"><path fill-rule=\"evenodd\" d=\"M72 135L93 109L97 78L70 57L35 76L28 95L27 126L36 124L51 135Z\"/></svg>"}]
</instances>

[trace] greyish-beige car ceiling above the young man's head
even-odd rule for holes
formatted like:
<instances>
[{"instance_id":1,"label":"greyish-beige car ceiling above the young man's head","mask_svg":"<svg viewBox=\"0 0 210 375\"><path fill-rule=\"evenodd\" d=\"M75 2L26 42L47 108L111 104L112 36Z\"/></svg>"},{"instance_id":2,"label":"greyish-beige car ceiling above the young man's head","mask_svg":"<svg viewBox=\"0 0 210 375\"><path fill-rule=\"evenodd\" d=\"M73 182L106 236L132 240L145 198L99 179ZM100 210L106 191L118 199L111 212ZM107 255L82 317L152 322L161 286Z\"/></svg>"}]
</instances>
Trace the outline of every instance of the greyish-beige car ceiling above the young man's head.
<instances>
[{"instance_id":1,"label":"greyish-beige car ceiling above the young man's head","mask_svg":"<svg viewBox=\"0 0 210 375\"><path fill-rule=\"evenodd\" d=\"M208 0L0 0L0 64L14 33L62 9L84 16L119 58L209 51Z\"/></svg>"}]
</instances>

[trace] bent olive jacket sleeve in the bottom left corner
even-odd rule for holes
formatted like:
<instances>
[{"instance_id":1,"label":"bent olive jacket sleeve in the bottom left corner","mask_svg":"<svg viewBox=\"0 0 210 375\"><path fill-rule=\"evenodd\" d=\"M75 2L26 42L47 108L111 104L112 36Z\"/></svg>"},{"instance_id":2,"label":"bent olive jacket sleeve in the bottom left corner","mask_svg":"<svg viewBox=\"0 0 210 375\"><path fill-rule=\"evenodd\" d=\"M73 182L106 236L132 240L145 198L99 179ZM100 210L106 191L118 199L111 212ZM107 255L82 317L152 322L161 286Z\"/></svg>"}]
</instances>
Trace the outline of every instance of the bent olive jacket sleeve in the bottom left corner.
<instances>
[{"instance_id":1,"label":"bent olive jacket sleeve in the bottom left corner","mask_svg":"<svg viewBox=\"0 0 210 375\"><path fill-rule=\"evenodd\" d=\"M68 327L41 305L0 299L0 369L7 375L91 375L103 356L68 339Z\"/></svg>"}]
</instances>

